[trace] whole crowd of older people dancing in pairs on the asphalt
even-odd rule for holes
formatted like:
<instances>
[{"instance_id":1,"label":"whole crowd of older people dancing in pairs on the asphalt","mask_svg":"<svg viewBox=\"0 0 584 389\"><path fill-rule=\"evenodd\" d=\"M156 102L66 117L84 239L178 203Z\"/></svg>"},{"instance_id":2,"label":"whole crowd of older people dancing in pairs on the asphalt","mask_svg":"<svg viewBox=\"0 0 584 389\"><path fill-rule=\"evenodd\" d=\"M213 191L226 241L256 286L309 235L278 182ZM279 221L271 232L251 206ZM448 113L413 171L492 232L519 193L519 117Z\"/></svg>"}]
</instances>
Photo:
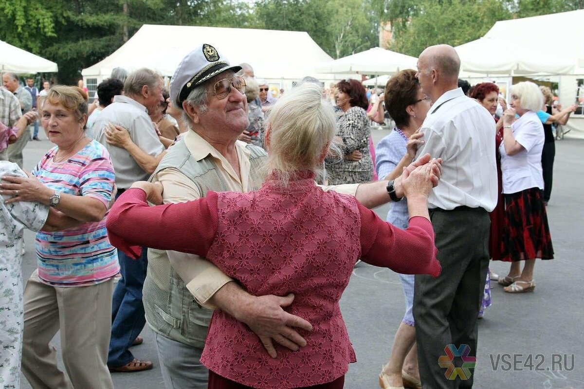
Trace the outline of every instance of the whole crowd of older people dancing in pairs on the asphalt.
<instances>
[{"instance_id":1,"label":"whole crowd of older people dancing in pairs on the asphalt","mask_svg":"<svg viewBox=\"0 0 584 389\"><path fill-rule=\"evenodd\" d=\"M152 369L130 350L148 323L167 389L342 388L356 356L339 300L362 260L404 289L380 386L472 387L436 361L450 344L477 355L491 281L533 292L536 258L554 257L551 124L574 107L531 82L507 104L494 83L459 87L459 71L437 45L377 99L310 76L276 99L203 44L168 88L116 68L91 104L82 81L39 92L4 73L2 383L22 369L35 389L113 388L111 373ZM395 127L374 145L384 112ZM26 174L39 123L54 147ZM383 221L370 208L387 202ZM24 229L37 269L23 288Z\"/></svg>"}]
</instances>

